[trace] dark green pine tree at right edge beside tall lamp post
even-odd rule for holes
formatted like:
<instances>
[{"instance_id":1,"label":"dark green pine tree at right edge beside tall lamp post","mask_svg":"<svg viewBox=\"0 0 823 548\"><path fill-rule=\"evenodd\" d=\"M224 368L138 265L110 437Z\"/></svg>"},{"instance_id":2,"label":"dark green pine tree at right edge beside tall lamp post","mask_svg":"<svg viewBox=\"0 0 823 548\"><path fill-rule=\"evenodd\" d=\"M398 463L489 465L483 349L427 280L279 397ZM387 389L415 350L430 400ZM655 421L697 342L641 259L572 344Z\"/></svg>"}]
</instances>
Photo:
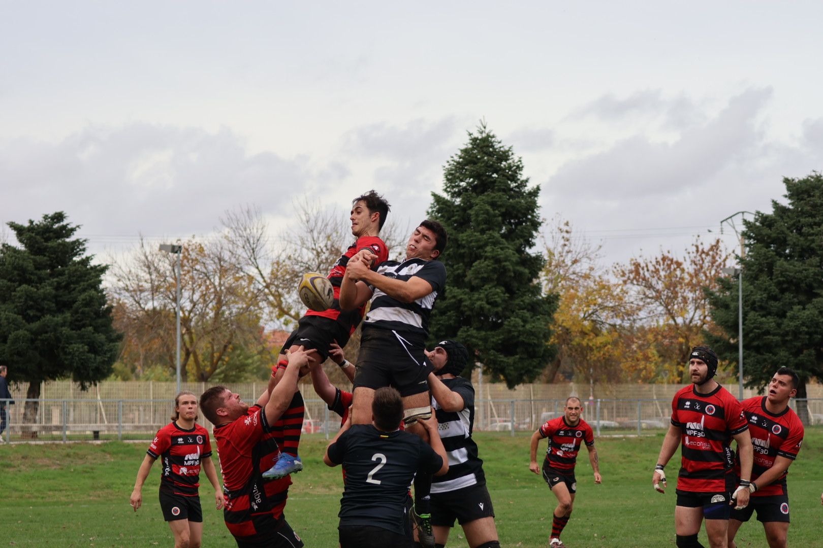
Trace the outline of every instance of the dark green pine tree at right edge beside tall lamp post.
<instances>
[{"instance_id":1,"label":"dark green pine tree at right edge beside tall lamp post","mask_svg":"<svg viewBox=\"0 0 823 548\"><path fill-rule=\"evenodd\" d=\"M823 176L784 178L787 204L745 222L743 374L763 387L780 366L797 371L797 398L806 383L823 380ZM737 278L709 292L712 316L725 334L711 337L718 356L737 363ZM798 414L808 420L805 403Z\"/></svg>"}]
</instances>

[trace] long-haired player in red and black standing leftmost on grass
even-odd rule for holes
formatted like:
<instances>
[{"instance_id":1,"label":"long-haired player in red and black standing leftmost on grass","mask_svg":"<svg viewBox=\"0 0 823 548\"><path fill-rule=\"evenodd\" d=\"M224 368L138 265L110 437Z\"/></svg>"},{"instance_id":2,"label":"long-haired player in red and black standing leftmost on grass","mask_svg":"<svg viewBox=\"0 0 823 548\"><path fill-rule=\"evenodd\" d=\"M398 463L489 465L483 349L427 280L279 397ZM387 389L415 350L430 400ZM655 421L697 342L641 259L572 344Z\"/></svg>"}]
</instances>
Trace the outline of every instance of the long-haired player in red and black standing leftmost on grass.
<instances>
[{"instance_id":1,"label":"long-haired player in red and black standing leftmost on grass","mask_svg":"<svg viewBox=\"0 0 823 548\"><path fill-rule=\"evenodd\" d=\"M157 431L146 457L137 471L131 504L135 512L142 505L142 487L151 465L160 458L160 509L174 535L174 546L198 548L202 540L203 518L198 487L200 470L206 472L214 487L217 509L224 498L212 463L212 444L208 431L198 425L198 398L192 392L181 392L174 398L174 416L170 424Z\"/></svg>"}]
</instances>

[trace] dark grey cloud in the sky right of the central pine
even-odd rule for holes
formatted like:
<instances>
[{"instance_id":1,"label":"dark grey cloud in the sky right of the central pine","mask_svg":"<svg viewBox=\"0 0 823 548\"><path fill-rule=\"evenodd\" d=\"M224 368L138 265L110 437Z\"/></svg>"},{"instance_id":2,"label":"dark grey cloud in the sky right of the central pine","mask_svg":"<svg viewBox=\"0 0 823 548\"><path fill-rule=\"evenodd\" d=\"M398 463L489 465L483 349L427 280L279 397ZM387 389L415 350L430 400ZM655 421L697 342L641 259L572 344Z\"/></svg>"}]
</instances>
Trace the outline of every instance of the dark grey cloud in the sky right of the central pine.
<instances>
[{"instance_id":1,"label":"dark grey cloud in the sky right of the central pine","mask_svg":"<svg viewBox=\"0 0 823 548\"><path fill-rule=\"evenodd\" d=\"M718 113L701 111L704 122L671 142L638 131L567 161L542 184L542 214L570 219L579 237L603 243L611 263L641 248L682 251L696 234L716 236L707 229L736 211L771 210L770 200L784 193L783 177L805 177L823 165L823 120L803 123L797 142L775 140L771 97L770 88L746 90ZM734 248L733 234L724 236Z\"/></svg>"}]
</instances>

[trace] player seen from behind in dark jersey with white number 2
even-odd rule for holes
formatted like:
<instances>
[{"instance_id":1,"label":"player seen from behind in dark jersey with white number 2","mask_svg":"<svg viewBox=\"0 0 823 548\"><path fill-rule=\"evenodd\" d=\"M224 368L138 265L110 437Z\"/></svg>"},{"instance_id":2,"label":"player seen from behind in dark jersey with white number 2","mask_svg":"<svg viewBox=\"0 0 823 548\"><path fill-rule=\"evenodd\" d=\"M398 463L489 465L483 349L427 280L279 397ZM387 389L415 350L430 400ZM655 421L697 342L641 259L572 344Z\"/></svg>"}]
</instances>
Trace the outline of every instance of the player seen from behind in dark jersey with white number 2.
<instances>
[{"instance_id":1,"label":"player seen from behind in dark jersey with white number 2","mask_svg":"<svg viewBox=\"0 0 823 548\"><path fill-rule=\"evenodd\" d=\"M430 445L400 431L403 404L393 388L374 392L370 425L346 421L326 449L323 462L346 467L338 527L341 548L411 548L406 535L408 487L415 473L442 475L449 460L437 420L420 420Z\"/></svg>"}]
</instances>

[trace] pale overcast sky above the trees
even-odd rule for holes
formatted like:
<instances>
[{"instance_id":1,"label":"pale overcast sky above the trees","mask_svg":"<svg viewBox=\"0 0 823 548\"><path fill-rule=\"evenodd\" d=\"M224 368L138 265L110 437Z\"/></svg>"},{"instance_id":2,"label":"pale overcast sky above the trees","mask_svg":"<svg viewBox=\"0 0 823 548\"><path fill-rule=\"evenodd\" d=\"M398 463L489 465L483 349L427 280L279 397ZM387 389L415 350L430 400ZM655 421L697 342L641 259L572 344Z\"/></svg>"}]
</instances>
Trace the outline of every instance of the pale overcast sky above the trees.
<instances>
[{"instance_id":1,"label":"pale overcast sky above the trees","mask_svg":"<svg viewBox=\"0 0 823 548\"><path fill-rule=\"evenodd\" d=\"M604 262L681 251L823 169L821 21L823 2L0 0L0 221L64 210L102 255L246 204L346 215L375 188L416 223L483 118Z\"/></svg>"}]
</instances>

